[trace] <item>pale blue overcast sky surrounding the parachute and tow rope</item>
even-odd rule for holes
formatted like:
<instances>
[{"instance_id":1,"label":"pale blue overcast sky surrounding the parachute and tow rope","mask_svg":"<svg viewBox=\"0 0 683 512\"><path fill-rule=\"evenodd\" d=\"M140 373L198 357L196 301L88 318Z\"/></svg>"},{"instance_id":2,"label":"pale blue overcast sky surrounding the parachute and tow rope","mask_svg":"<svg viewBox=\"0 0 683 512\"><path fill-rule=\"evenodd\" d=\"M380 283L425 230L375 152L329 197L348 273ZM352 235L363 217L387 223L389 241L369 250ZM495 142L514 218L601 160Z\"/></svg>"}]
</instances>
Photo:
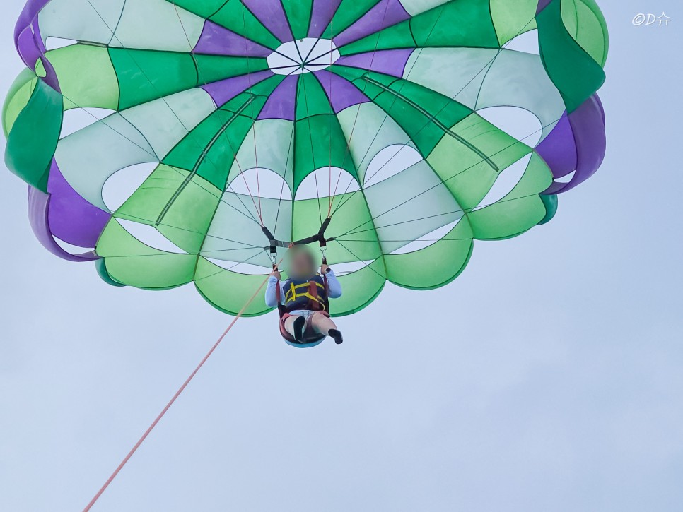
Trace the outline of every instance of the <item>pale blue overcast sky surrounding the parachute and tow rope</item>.
<instances>
[{"instance_id":1,"label":"pale blue overcast sky surrounding the parachute and tow rope","mask_svg":"<svg viewBox=\"0 0 683 512\"><path fill-rule=\"evenodd\" d=\"M238 322L94 511L681 510L683 6L599 3L607 159L554 222L444 289L387 286L341 347ZM0 510L78 511L231 318L60 261L25 203L0 172Z\"/></svg>"}]
</instances>

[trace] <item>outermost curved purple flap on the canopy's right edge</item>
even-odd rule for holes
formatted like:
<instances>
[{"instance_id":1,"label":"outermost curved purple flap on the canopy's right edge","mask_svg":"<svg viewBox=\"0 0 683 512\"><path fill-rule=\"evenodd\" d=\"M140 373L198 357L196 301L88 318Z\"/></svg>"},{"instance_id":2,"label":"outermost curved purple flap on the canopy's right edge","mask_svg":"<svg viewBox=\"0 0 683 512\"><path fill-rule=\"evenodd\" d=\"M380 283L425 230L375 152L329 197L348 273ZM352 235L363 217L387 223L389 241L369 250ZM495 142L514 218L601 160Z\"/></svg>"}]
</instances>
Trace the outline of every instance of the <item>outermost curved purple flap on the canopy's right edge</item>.
<instances>
[{"instance_id":1,"label":"outermost curved purple flap on the canopy's right edge","mask_svg":"<svg viewBox=\"0 0 683 512\"><path fill-rule=\"evenodd\" d=\"M568 183L555 182L545 194L560 194L582 184L597 172L605 159L605 117L597 94L569 114L569 123L576 141L576 172Z\"/></svg>"}]
</instances>

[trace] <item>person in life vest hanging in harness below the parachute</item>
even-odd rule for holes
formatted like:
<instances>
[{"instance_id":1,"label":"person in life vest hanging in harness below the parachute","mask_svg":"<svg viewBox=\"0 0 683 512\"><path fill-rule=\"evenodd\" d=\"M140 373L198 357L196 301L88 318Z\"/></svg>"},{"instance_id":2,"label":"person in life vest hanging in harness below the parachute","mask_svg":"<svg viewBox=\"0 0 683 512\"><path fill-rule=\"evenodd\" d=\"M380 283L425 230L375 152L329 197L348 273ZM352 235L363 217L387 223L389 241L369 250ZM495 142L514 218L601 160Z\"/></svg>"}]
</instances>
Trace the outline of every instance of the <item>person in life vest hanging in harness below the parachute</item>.
<instances>
[{"instance_id":1,"label":"person in life vest hanging in harness below the parachute","mask_svg":"<svg viewBox=\"0 0 683 512\"><path fill-rule=\"evenodd\" d=\"M289 279L282 282L277 268L268 280L266 305L277 306L280 331L287 343L312 347L327 336L341 344L344 338L329 318L329 299L342 297L342 285L332 268L323 263L316 272L315 258L307 246L288 250Z\"/></svg>"}]
</instances>

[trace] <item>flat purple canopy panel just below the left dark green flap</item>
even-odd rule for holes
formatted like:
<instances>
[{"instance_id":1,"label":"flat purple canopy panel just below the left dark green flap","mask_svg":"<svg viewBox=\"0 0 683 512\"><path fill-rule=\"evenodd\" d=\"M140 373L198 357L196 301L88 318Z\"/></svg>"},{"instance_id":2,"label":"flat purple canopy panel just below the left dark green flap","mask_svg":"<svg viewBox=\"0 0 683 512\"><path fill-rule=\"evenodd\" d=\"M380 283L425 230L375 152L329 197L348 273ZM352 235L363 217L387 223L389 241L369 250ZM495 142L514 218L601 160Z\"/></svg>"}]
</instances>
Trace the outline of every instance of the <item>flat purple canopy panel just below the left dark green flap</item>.
<instances>
[{"instance_id":1,"label":"flat purple canopy panel just below the left dark green flap","mask_svg":"<svg viewBox=\"0 0 683 512\"><path fill-rule=\"evenodd\" d=\"M81 247L97 245L110 213L100 210L88 203L71 188L59 170L57 162L52 160L47 180L49 201L48 224L55 237L68 244Z\"/></svg>"}]
</instances>

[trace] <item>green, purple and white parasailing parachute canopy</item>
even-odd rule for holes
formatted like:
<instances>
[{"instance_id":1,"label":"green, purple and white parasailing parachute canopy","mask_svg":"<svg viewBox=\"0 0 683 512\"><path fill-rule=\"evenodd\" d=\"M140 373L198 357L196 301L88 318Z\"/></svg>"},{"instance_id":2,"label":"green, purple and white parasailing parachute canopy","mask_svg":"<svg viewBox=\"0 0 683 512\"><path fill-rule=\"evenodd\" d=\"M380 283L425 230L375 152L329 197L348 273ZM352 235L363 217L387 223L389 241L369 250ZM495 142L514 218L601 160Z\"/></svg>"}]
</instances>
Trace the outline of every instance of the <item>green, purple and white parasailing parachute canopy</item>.
<instances>
[{"instance_id":1,"label":"green, purple and white parasailing parachute canopy","mask_svg":"<svg viewBox=\"0 0 683 512\"><path fill-rule=\"evenodd\" d=\"M337 315L445 285L605 154L593 0L29 0L16 46L42 244L233 314L296 241L327 244Z\"/></svg>"}]
</instances>

